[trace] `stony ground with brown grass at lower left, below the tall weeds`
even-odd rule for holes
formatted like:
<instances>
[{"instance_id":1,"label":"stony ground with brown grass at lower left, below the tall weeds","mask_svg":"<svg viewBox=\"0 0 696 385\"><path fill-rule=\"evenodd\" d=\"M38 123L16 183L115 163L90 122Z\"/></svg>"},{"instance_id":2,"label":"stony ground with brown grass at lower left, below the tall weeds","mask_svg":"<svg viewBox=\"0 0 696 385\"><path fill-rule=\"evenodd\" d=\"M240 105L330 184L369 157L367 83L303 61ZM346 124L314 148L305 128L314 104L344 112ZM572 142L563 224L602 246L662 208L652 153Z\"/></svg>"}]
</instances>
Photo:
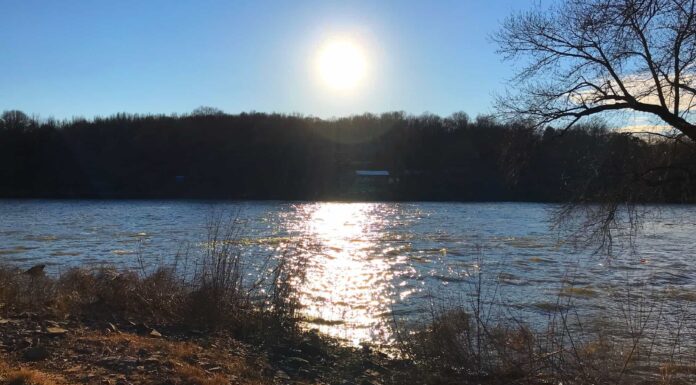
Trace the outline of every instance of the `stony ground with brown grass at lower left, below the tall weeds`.
<instances>
[{"instance_id":1,"label":"stony ground with brown grass at lower left, below the tall weeds","mask_svg":"<svg viewBox=\"0 0 696 385\"><path fill-rule=\"evenodd\" d=\"M0 318L0 384L361 384L406 381L385 356L312 332L252 346L230 333L22 312ZM390 361L392 362L392 361ZM401 380L401 381L399 381Z\"/></svg>"}]
</instances>

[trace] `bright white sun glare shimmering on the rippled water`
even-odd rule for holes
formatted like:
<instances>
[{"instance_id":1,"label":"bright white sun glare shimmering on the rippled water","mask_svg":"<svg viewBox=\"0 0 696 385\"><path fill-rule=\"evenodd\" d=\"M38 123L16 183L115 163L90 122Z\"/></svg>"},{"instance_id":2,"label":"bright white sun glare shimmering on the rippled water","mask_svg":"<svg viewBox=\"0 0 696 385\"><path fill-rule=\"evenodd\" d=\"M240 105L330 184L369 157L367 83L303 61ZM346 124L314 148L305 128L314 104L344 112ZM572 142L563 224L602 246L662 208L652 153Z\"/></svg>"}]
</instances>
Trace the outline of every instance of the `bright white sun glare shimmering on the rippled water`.
<instances>
[{"instance_id":1,"label":"bright white sun glare shimmering on the rippled water","mask_svg":"<svg viewBox=\"0 0 696 385\"><path fill-rule=\"evenodd\" d=\"M377 206L320 203L305 213L309 237L299 297L308 327L353 345L391 339L384 314L399 258L378 248L386 219Z\"/></svg>"}]
</instances>

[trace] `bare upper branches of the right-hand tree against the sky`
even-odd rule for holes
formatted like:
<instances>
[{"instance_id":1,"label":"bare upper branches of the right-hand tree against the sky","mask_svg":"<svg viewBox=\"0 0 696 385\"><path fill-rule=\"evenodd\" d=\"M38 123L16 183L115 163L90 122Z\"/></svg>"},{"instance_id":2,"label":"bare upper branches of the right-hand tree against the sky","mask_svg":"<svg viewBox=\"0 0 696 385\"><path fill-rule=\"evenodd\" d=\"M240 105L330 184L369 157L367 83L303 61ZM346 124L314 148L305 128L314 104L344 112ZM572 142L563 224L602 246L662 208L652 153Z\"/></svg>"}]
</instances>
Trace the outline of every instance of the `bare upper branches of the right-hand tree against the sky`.
<instances>
[{"instance_id":1,"label":"bare upper branches of the right-hand tree against the sky","mask_svg":"<svg viewBox=\"0 0 696 385\"><path fill-rule=\"evenodd\" d=\"M565 0L515 14L494 36L522 62L501 110L572 127L622 110L696 140L696 0Z\"/></svg>"}]
</instances>

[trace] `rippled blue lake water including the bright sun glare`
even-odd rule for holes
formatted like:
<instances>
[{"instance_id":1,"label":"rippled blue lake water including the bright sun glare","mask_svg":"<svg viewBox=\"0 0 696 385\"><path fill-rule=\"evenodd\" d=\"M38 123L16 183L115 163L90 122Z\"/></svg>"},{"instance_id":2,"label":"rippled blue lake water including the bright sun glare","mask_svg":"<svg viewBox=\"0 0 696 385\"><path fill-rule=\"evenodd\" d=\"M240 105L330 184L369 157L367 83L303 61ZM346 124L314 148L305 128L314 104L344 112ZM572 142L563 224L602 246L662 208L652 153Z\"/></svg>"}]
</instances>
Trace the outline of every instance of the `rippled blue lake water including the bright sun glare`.
<instances>
[{"instance_id":1,"label":"rippled blue lake water including the bright sun glare","mask_svg":"<svg viewBox=\"0 0 696 385\"><path fill-rule=\"evenodd\" d=\"M252 259L288 247L307 263L300 299L309 327L349 343L388 343L392 317L484 297L534 322L574 287L583 312L618 306L639 288L680 309L696 304L696 207L662 207L633 253L591 255L549 230L546 204L189 201L0 201L0 262L140 266L200 252L212 213L238 216ZM566 289L564 289L566 288ZM638 290L638 289L636 289Z\"/></svg>"}]
</instances>

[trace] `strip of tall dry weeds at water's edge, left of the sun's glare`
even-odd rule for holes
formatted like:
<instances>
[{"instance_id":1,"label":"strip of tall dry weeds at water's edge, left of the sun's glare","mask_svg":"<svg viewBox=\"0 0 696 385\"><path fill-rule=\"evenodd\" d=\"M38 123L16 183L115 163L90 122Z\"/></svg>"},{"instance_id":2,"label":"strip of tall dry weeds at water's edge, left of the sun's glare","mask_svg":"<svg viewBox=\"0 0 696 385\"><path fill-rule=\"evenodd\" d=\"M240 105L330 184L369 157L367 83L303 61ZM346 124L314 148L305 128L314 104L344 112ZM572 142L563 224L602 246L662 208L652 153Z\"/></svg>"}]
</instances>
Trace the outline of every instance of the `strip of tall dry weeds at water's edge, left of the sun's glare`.
<instances>
[{"instance_id":1,"label":"strip of tall dry weeds at water's edge, left of the sun's glare","mask_svg":"<svg viewBox=\"0 0 696 385\"><path fill-rule=\"evenodd\" d=\"M23 311L56 317L113 317L188 329L250 334L297 331L291 282L300 274L287 255L266 261L254 281L234 221L209 225L207 247L193 271L178 262L152 271L75 268L59 277L29 276L0 266L0 315ZM257 262L257 261L254 261Z\"/></svg>"}]
</instances>

